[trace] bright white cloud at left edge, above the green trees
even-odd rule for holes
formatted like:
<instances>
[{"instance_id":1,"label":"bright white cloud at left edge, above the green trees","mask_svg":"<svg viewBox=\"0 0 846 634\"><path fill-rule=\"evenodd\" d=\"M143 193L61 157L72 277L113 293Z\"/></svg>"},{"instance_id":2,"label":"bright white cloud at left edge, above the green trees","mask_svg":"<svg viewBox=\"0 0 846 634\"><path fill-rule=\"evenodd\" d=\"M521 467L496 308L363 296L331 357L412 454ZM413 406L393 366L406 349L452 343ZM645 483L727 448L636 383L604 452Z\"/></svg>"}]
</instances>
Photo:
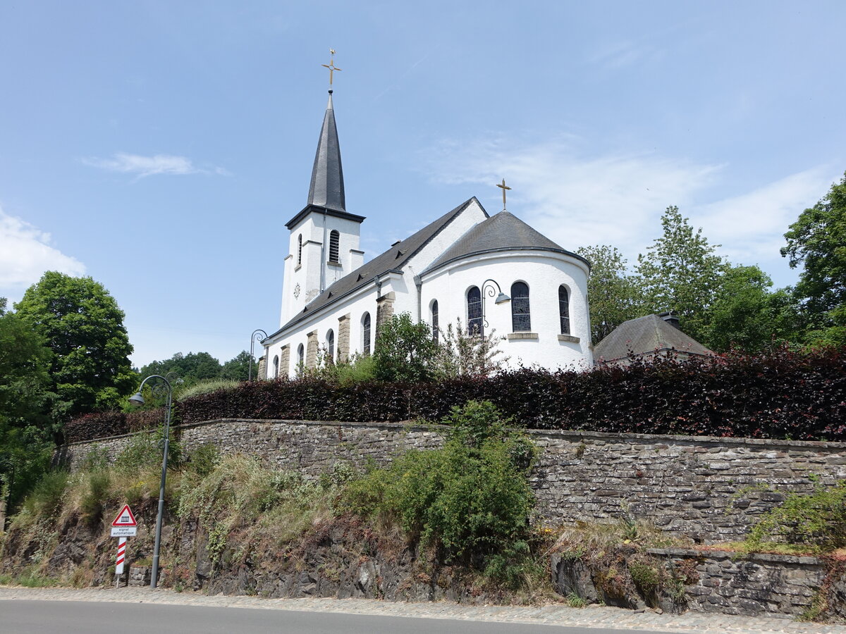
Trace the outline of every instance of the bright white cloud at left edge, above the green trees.
<instances>
[{"instance_id":1,"label":"bright white cloud at left edge, above the green trees","mask_svg":"<svg viewBox=\"0 0 846 634\"><path fill-rule=\"evenodd\" d=\"M85 265L50 246L49 233L0 209L0 288L24 289L44 271L80 276Z\"/></svg>"}]
</instances>

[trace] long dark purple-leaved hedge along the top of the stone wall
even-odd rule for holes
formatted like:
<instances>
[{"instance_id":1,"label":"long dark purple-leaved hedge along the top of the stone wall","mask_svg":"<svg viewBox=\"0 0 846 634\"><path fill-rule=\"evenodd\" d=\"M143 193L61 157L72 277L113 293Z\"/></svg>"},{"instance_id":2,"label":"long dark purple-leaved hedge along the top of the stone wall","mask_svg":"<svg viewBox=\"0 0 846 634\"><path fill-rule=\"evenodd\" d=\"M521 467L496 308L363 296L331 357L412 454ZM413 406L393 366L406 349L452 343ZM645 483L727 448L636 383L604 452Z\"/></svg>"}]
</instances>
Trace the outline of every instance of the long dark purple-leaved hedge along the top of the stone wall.
<instances>
[{"instance_id":1,"label":"long dark purple-leaved hedge along the top of the stone wall","mask_svg":"<svg viewBox=\"0 0 846 634\"><path fill-rule=\"evenodd\" d=\"M516 369L490 378L407 384L272 380L176 404L182 424L215 418L438 421L470 399L531 429L846 440L843 350L633 359L585 372Z\"/></svg>"}]
</instances>

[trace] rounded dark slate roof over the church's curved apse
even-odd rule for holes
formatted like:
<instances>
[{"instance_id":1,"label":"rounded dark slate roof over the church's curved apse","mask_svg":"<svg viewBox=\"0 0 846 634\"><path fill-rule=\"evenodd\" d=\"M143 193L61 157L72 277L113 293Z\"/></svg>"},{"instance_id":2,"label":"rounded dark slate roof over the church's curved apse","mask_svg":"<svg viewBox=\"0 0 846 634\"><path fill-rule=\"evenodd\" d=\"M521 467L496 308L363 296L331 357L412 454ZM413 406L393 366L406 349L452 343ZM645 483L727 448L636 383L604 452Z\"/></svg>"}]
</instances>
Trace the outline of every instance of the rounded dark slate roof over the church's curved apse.
<instances>
[{"instance_id":1,"label":"rounded dark slate roof over the church's curved apse","mask_svg":"<svg viewBox=\"0 0 846 634\"><path fill-rule=\"evenodd\" d=\"M590 265L585 258L562 249L557 243L537 232L509 211L500 211L486 221L470 229L464 236L447 249L435 260L426 271L447 265L454 260L461 260L471 255L491 253L492 251L512 250L553 251L565 255L572 255Z\"/></svg>"}]
</instances>

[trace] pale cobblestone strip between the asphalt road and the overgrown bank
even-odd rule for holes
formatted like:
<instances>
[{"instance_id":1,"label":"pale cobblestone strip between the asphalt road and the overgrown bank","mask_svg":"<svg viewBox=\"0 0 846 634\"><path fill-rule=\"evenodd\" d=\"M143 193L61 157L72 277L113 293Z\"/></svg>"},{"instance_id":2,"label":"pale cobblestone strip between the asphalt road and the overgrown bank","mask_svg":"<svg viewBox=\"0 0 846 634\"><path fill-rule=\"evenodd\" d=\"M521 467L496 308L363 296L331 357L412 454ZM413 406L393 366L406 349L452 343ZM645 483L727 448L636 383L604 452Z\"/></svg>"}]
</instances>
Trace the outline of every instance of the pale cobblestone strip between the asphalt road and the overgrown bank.
<instances>
[{"instance_id":1,"label":"pale cobblestone strip between the asphalt road and the overgrown bank","mask_svg":"<svg viewBox=\"0 0 846 634\"><path fill-rule=\"evenodd\" d=\"M550 626L581 626L633 631L697 632L697 634L846 634L846 626L821 623L794 623L786 619L750 618L688 612L684 615L656 614L651 610L633 612L594 605L575 609L563 604L532 606L461 605L451 601L404 603L362 598L258 598L206 596L202 593L174 593L158 588L3 588L3 600L99 601L197 605L250 609L279 609L332 612L352 615L392 615L428 619L533 623Z\"/></svg>"}]
</instances>

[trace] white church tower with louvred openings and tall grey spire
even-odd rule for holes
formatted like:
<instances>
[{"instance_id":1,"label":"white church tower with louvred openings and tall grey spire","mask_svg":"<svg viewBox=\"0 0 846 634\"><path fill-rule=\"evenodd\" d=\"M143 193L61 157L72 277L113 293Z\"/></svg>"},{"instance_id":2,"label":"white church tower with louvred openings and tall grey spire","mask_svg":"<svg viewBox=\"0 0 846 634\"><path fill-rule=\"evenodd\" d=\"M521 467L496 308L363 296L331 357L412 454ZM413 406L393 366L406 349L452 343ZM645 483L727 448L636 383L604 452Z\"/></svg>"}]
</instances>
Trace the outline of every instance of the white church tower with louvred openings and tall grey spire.
<instances>
[{"instance_id":1,"label":"white church tower with louvred openings and tall grey spire","mask_svg":"<svg viewBox=\"0 0 846 634\"><path fill-rule=\"evenodd\" d=\"M327 68L330 72L338 70L333 63ZM364 252L359 249L360 225L364 220L364 216L356 216L346 210L341 150L330 87L311 169L308 202L285 224L290 237L288 257L285 258L280 327L331 287L334 281L364 264Z\"/></svg>"}]
</instances>

